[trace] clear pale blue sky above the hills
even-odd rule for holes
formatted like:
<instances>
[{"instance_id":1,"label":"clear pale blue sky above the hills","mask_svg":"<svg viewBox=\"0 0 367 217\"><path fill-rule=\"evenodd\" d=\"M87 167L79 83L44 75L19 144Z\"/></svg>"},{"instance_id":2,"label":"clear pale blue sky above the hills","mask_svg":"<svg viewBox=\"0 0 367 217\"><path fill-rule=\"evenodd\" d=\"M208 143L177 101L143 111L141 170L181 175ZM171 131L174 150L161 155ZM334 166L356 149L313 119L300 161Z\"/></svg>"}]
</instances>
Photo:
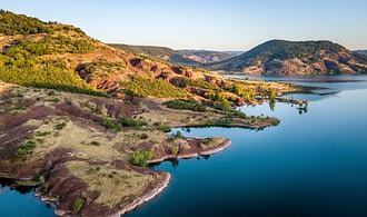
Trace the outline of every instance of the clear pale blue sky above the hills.
<instances>
[{"instance_id":1,"label":"clear pale blue sky above the hills","mask_svg":"<svg viewBox=\"0 0 367 217\"><path fill-rule=\"evenodd\" d=\"M0 0L0 8L105 42L248 50L269 39L323 39L367 49L366 0Z\"/></svg>"}]
</instances>

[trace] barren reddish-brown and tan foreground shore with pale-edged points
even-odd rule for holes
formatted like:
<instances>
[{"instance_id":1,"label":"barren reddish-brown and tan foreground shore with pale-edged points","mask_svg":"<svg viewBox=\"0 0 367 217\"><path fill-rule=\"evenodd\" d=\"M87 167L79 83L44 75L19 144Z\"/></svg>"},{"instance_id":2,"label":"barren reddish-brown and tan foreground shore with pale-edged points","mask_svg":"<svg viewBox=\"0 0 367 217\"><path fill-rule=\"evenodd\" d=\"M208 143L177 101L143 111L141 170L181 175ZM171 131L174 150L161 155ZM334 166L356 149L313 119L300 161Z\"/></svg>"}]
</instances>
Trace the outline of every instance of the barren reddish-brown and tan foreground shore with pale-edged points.
<instances>
[{"instance_id":1,"label":"barren reddish-brown and tan foreground shore with pale-edged points","mask_svg":"<svg viewBox=\"0 0 367 217\"><path fill-rule=\"evenodd\" d=\"M234 117L220 125L225 114L177 111L160 100L132 105L1 82L0 93L6 101L0 105L0 131L4 134L0 137L0 176L18 186L38 187L34 195L58 216L119 216L161 193L170 175L138 167L143 165L130 162L132 154L149 154L152 157L140 160L158 164L212 155L230 146L222 137L175 137L163 126L262 129L276 125L276 119L261 117L251 121ZM117 126L121 117L145 125L121 129Z\"/></svg>"}]
</instances>

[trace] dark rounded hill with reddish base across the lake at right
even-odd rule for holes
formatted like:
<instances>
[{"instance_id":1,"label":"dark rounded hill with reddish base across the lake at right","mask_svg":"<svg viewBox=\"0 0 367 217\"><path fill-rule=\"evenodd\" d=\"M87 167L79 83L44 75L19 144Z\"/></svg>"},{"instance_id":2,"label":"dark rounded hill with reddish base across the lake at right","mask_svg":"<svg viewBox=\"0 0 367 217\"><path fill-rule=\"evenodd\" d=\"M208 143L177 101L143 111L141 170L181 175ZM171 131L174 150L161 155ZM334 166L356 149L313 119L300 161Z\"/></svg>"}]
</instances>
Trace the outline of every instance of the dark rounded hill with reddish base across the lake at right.
<instances>
[{"instance_id":1,"label":"dark rounded hill with reddish base across the lake at right","mask_svg":"<svg viewBox=\"0 0 367 217\"><path fill-rule=\"evenodd\" d=\"M248 75L356 75L367 72L367 58L330 41L271 40L204 67Z\"/></svg>"}]
</instances>

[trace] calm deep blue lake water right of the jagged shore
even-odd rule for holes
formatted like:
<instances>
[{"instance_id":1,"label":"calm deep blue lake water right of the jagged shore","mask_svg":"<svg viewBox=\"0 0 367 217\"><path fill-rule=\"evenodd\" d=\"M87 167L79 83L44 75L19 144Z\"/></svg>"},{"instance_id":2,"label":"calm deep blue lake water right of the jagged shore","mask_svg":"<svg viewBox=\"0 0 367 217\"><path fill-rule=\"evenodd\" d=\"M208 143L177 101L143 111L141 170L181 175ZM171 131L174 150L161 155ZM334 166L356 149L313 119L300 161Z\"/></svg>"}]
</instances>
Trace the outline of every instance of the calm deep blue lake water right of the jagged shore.
<instances>
[{"instance_id":1,"label":"calm deep blue lake water right of the jagged shore","mask_svg":"<svg viewBox=\"0 0 367 217\"><path fill-rule=\"evenodd\" d=\"M367 216L367 83L326 85L338 91L310 99L306 114L286 103L240 108L278 117L277 127L181 130L232 145L208 159L155 167L172 175L170 185L127 216Z\"/></svg>"}]
</instances>

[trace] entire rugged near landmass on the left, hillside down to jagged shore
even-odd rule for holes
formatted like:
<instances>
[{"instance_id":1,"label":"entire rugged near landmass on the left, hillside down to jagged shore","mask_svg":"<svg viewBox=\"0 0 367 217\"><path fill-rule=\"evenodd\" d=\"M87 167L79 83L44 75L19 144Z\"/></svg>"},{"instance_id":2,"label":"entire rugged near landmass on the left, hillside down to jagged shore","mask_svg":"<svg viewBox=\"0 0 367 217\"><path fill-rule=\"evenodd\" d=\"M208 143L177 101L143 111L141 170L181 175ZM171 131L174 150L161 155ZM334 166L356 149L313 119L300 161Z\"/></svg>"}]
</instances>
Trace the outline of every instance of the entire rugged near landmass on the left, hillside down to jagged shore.
<instances>
[{"instance_id":1,"label":"entire rugged near landmass on the left, hillside down to jagged shore","mask_svg":"<svg viewBox=\"0 0 367 217\"><path fill-rule=\"evenodd\" d=\"M0 179L39 187L37 195L53 203L58 216L132 210L168 185L169 174L148 164L229 145L226 138L168 135L172 127L275 126L276 118L234 107L274 103L297 90L227 80L112 48L72 26L3 10L0 48Z\"/></svg>"}]
</instances>

